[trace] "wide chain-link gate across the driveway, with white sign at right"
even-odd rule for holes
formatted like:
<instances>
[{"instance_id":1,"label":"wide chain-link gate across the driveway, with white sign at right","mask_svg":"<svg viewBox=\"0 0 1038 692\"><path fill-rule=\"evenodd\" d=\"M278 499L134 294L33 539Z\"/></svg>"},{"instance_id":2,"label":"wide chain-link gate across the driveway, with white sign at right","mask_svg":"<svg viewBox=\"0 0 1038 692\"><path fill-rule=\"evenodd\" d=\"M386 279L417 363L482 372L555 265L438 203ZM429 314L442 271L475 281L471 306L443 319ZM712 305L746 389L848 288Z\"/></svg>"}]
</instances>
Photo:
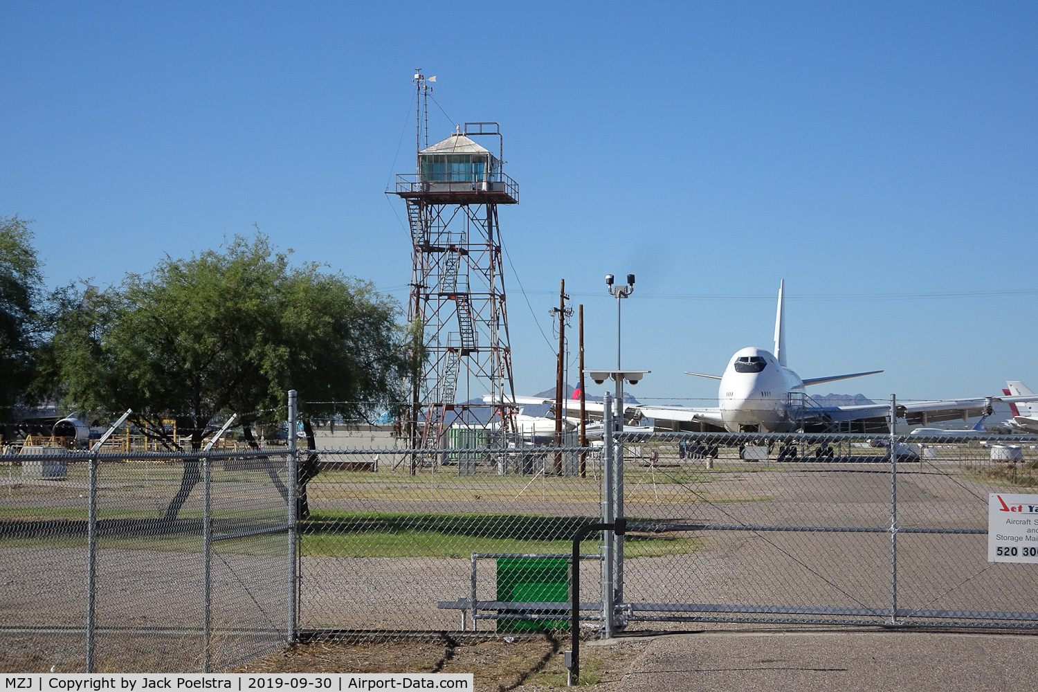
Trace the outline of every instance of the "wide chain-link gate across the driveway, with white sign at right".
<instances>
[{"instance_id":1,"label":"wide chain-link gate across the driveway, with white sign at right","mask_svg":"<svg viewBox=\"0 0 1038 692\"><path fill-rule=\"evenodd\" d=\"M1038 565L988 562L986 535L988 494L1038 480L1033 436L619 438L634 533L618 541L672 546L625 555L616 609L628 628L1038 626Z\"/></svg>"}]
</instances>

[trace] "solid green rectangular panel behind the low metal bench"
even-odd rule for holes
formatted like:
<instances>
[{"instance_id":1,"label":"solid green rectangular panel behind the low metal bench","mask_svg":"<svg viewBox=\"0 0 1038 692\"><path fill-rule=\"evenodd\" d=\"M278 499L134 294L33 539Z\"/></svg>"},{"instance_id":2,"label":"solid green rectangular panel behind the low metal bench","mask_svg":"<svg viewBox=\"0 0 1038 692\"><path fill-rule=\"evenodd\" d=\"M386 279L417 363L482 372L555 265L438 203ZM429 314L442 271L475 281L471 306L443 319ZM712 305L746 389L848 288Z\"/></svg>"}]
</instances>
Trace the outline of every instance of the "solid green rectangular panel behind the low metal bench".
<instances>
[{"instance_id":1,"label":"solid green rectangular panel behind the low metal bench","mask_svg":"<svg viewBox=\"0 0 1038 692\"><path fill-rule=\"evenodd\" d=\"M497 600L525 603L557 603L558 617L496 620L498 632L527 632L569 629L570 561L565 557L498 557ZM521 612L502 610L500 614Z\"/></svg>"}]
</instances>

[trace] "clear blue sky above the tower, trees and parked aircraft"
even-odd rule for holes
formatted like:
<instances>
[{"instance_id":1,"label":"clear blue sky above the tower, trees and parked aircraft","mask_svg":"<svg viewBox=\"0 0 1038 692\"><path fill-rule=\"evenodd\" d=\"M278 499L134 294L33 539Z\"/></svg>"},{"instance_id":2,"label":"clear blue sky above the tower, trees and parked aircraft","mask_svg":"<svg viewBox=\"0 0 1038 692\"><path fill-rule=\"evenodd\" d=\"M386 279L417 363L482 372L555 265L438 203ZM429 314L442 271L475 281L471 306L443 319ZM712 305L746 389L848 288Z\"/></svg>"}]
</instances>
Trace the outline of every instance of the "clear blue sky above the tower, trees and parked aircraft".
<instances>
[{"instance_id":1,"label":"clear blue sky above the tower, trees and parked aircraft","mask_svg":"<svg viewBox=\"0 0 1038 692\"><path fill-rule=\"evenodd\" d=\"M47 280L94 283L252 225L406 297L411 75L431 140L496 120L516 386L552 386L548 309L635 273L641 399L714 400L738 348L883 398L1038 387L1038 5L0 1L0 215ZM526 300L532 305L527 307ZM574 324L575 327L575 324ZM575 342L574 342L575 343ZM575 350L575 349L574 349ZM600 393L601 388L592 388Z\"/></svg>"}]
</instances>

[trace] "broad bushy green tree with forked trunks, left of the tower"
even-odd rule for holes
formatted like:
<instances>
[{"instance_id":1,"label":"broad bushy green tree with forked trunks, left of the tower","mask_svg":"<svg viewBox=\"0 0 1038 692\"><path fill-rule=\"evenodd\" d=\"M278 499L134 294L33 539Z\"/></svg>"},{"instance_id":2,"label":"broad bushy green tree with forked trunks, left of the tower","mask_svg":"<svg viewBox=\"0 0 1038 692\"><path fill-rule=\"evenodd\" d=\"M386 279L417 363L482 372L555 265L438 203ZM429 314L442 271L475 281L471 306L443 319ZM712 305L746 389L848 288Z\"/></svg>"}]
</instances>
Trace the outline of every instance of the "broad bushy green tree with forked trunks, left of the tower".
<instances>
[{"instance_id":1,"label":"broad bushy green tree with forked trunks, left of the tower","mask_svg":"<svg viewBox=\"0 0 1038 692\"><path fill-rule=\"evenodd\" d=\"M63 295L52 344L56 386L80 408L133 409L132 421L169 449L182 445L166 420L198 450L215 419L240 413L251 424L253 412L283 406L289 389L303 403L342 402L325 415L370 415L390 403L406 369L391 299L319 265L293 267L261 234L236 237L222 251L167 256L86 300ZM312 435L308 442L313 448ZM304 518L315 475L311 454L297 479ZM200 477L198 463L187 461L167 519Z\"/></svg>"}]
</instances>

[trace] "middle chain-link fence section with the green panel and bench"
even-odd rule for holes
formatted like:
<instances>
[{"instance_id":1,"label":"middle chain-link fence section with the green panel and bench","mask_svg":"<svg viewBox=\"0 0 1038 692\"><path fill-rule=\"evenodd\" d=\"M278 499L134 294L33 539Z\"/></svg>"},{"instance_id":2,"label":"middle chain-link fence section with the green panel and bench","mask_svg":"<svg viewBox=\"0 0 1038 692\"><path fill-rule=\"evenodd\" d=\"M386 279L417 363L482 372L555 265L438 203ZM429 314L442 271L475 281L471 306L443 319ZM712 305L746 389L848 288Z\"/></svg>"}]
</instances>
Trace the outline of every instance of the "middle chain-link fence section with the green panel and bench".
<instances>
[{"instance_id":1,"label":"middle chain-link fence section with the green panel and bench","mask_svg":"<svg viewBox=\"0 0 1038 692\"><path fill-rule=\"evenodd\" d=\"M311 454L320 472L299 533L304 631L390 638L566 626L571 539L602 510L600 449ZM600 610L598 541L581 553L581 600Z\"/></svg>"}]
</instances>

